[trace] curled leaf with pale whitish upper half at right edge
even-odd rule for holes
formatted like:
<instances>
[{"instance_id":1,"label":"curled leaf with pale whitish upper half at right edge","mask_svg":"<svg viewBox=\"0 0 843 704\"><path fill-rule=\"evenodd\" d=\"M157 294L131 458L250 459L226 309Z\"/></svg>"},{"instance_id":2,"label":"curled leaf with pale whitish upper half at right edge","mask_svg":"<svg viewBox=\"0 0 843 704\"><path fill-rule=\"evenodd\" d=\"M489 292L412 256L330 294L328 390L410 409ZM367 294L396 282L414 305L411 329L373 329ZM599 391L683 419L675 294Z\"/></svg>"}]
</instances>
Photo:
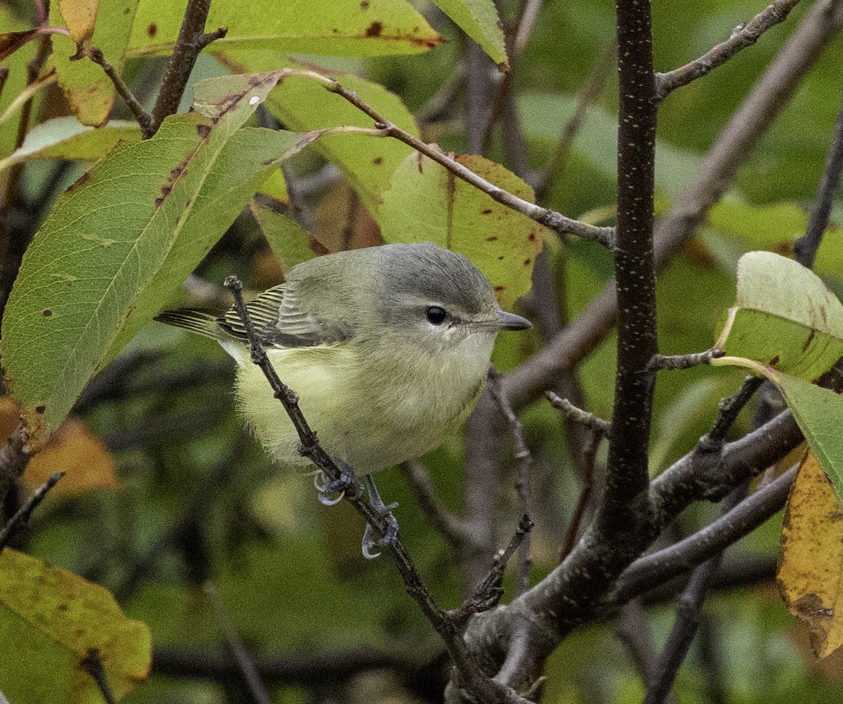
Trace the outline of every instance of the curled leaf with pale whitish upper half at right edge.
<instances>
[{"instance_id":1,"label":"curled leaf with pale whitish upper half at right edge","mask_svg":"<svg viewBox=\"0 0 843 704\"><path fill-rule=\"evenodd\" d=\"M749 252L738 261L734 306L716 347L800 379L817 379L843 356L843 304L796 261Z\"/></svg>"}]
</instances>

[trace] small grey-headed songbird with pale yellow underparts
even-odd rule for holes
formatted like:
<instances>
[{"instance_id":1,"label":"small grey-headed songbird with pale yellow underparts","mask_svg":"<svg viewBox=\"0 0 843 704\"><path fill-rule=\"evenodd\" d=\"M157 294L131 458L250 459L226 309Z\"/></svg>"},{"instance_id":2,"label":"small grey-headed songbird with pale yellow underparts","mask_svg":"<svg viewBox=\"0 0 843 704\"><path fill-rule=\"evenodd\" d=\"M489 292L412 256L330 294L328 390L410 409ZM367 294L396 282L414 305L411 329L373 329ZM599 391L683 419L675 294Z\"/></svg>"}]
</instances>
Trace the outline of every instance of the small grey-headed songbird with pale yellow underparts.
<instances>
[{"instance_id":1,"label":"small grey-headed songbird with pale yellow underparts","mask_svg":"<svg viewBox=\"0 0 843 704\"><path fill-rule=\"evenodd\" d=\"M304 261L246 309L323 449L365 476L384 513L389 507L371 473L418 457L454 432L481 395L497 333L530 325L500 308L468 259L429 242ZM238 406L257 438L282 465L308 464L293 423L250 362L234 309L180 309L156 320L219 342L239 365ZM329 502L324 489L320 499Z\"/></svg>"}]
</instances>

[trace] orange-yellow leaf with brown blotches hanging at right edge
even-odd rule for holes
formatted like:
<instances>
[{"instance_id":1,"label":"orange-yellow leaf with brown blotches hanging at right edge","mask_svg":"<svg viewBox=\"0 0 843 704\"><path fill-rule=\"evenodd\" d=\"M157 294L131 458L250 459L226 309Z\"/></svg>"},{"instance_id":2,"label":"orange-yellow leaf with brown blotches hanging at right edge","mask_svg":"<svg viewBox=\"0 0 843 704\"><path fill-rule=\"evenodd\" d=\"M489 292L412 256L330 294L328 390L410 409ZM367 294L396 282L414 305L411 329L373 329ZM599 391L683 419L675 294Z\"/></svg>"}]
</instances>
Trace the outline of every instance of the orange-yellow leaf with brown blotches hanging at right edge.
<instances>
[{"instance_id":1,"label":"orange-yellow leaf with brown blotches hanging at right edge","mask_svg":"<svg viewBox=\"0 0 843 704\"><path fill-rule=\"evenodd\" d=\"M776 581L791 613L808 625L825 658L843 645L843 513L829 479L808 451L787 498Z\"/></svg>"}]
</instances>

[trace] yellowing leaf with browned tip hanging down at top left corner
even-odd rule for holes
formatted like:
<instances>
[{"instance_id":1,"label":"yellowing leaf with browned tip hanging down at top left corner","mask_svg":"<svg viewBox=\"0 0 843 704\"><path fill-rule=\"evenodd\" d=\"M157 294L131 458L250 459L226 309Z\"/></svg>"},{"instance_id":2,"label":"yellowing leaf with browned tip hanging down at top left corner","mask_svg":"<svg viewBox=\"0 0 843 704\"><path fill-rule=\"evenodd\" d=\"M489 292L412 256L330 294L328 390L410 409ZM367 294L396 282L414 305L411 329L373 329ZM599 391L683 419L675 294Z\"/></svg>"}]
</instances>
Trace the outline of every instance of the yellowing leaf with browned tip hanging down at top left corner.
<instances>
[{"instance_id":1,"label":"yellowing leaf with browned tip hanging down at top left corner","mask_svg":"<svg viewBox=\"0 0 843 704\"><path fill-rule=\"evenodd\" d=\"M67 4L70 8L74 5ZM122 72L126 44L136 8L137 0L99 0L96 26L90 44L103 52L105 60L115 67L117 73ZM53 26L67 26L62 18L59 3L50 4L50 22ZM53 43L54 51L48 66L56 69L59 85L62 86L73 114L83 125L105 124L114 106L114 83L111 83L99 64L88 58L71 60L70 57L76 54L77 47L70 38L53 35Z\"/></svg>"}]
</instances>

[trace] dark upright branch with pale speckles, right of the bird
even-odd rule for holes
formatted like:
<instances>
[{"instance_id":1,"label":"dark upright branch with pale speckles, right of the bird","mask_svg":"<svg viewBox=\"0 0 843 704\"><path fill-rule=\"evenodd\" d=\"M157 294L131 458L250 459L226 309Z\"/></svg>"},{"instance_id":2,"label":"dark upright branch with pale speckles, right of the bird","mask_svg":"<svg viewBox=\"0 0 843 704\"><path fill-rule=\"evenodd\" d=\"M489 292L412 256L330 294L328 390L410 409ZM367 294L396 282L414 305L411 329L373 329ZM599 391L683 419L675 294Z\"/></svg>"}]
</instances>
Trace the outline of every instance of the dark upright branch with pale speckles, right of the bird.
<instances>
[{"instance_id":1,"label":"dark upright branch with pale speckles, right of the bird","mask_svg":"<svg viewBox=\"0 0 843 704\"><path fill-rule=\"evenodd\" d=\"M647 488L647 450L658 352L652 204L656 97L648 0L617 0L620 112L618 224L615 250L618 367L609 435L606 492L599 527L632 530L640 518L631 501Z\"/></svg>"}]
</instances>

